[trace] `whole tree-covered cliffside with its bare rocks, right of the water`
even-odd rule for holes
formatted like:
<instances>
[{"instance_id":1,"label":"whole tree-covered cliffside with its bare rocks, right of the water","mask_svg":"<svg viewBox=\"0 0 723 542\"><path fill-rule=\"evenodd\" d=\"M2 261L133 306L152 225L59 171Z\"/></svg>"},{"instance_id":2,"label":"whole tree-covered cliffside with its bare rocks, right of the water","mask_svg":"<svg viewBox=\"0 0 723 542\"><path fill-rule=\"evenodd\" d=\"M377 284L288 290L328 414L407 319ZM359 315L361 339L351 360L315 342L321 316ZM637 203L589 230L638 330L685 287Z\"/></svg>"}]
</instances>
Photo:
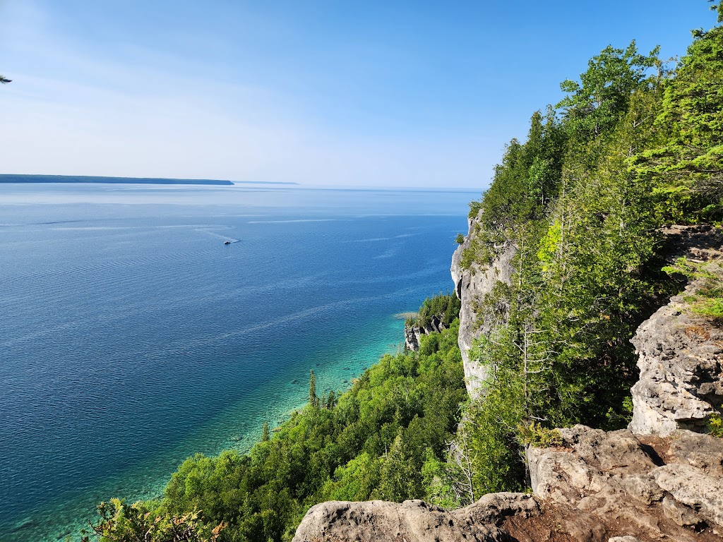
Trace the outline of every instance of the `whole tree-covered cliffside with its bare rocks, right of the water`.
<instances>
[{"instance_id":1,"label":"whole tree-covered cliffside with its bare rocks, right of the water","mask_svg":"<svg viewBox=\"0 0 723 542\"><path fill-rule=\"evenodd\" d=\"M86 536L719 540L723 27L675 62L609 46L561 87L471 203L461 308L427 300L417 350L341 395L310 374L307 406L247 454L190 457ZM388 503L351 503L370 499Z\"/></svg>"}]
</instances>

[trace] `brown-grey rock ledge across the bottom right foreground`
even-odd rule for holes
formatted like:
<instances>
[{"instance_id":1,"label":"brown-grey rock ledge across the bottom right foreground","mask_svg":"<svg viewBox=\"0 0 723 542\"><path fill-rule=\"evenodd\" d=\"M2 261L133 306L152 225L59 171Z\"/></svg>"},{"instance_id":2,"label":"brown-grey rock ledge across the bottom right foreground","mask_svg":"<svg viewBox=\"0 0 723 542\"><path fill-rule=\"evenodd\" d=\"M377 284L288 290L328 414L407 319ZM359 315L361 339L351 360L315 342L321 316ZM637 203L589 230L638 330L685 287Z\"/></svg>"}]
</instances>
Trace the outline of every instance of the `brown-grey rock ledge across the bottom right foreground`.
<instances>
[{"instance_id":1,"label":"brown-grey rock ledge across the bottom right foreground","mask_svg":"<svg viewBox=\"0 0 723 542\"><path fill-rule=\"evenodd\" d=\"M723 440L559 429L529 447L534 495L488 494L445 510L422 501L325 502L294 542L713 542L723 540Z\"/></svg>"}]
</instances>

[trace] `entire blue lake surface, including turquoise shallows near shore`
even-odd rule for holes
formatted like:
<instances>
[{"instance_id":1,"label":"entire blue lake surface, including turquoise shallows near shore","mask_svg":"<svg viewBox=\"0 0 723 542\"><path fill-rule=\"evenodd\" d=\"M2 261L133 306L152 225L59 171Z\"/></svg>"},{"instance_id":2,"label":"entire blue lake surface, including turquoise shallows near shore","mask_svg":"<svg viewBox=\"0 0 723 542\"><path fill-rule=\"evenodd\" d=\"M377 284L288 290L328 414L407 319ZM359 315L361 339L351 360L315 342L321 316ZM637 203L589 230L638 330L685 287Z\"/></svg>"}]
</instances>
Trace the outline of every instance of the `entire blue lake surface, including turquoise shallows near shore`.
<instances>
[{"instance_id":1,"label":"entire blue lake surface, including turquoise shallows near shore","mask_svg":"<svg viewBox=\"0 0 723 542\"><path fill-rule=\"evenodd\" d=\"M343 390L452 288L478 195L0 185L0 541L247 449L309 369Z\"/></svg>"}]
</instances>

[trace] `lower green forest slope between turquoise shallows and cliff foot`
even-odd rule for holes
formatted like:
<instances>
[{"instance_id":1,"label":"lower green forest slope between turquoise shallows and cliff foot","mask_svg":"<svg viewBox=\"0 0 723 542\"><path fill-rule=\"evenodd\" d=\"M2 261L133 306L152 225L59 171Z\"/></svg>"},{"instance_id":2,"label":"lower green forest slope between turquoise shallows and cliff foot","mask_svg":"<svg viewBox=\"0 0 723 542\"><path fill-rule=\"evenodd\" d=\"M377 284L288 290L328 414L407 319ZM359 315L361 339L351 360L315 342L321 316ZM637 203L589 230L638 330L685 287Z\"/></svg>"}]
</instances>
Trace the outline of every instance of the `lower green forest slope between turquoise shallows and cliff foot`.
<instances>
[{"instance_id":1,"label":"lower green forest slope between turquoise shallows and cliff foot","mask_svg":"<svg viewBox=\"0 0 723 542\"><path fill-rule=\"evenodd\" d=\"M309 405L268 441L247 455L189 457L160 502L138 506L151 519L202 510L194 521L203 529L226 526L219 542L267 542L290 540L307 509L326 500L427 498L423 467L443 463L466 396L457 336L454 320L429 335L429 354L385 355L338 400L330 393L321 404L310 385Z\"/></svg>"}]
</instances>

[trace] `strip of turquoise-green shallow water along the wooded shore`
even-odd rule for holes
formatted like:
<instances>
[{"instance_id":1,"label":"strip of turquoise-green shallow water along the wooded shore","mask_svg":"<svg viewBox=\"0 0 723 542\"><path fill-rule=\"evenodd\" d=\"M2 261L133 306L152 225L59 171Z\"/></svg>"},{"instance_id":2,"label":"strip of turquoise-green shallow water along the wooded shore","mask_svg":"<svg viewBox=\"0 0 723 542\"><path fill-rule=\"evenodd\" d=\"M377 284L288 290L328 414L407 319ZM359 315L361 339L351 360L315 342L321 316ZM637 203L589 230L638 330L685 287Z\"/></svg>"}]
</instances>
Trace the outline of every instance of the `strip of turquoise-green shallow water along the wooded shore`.
<instances>
[{"instance_id":1,"label":"strip of turquoise-green shallow water along the wooded shore","mask_svg":"<svg viewBox=\"0 0 723 542\"><path fill-rule=\"evenodd\" d=\"M367 346L361 350L348 351L333 365L322 366L316 362L309 366L317 374L317 390L320 392L345 392L352 382L366 369L376 364L385 353L394 353L398 345L390 344L390 333L403 337L403 322L389 315L385 319L385 330L377 340L367 337ZM303 365L308 360L301 361ZM308 373L307 373L308 375ZM294 383L293 381L297 382ZM224 410L206 426L195 431L159 457L147 460L124 470L116 476L94 484L95 489L76 491L69 497L46 503L42 508L32 510L16 520L0 525L0 536L11 536L17 542L54 542L70 536L74 542L80 539L80 529L87 527L98 502L119 497L129 502L155 499L163 494L166 484L175 470L187 457L196 453L218 455L226 449L247 453L258 442L264 421L276 429L307 403L308 378L306 380L279 378L270 382L263 390L256 390L257 397L273 397L268 405L257 403L254 413L239 423L238 419L249 408L246 398ZM237 431L228 432L236 423ZM225 434L221 436L221 433ZM40 515L54 516L55 520L38 521ZM90 517L89 517L90 516Z\"/></svg>"}]
</instances>

